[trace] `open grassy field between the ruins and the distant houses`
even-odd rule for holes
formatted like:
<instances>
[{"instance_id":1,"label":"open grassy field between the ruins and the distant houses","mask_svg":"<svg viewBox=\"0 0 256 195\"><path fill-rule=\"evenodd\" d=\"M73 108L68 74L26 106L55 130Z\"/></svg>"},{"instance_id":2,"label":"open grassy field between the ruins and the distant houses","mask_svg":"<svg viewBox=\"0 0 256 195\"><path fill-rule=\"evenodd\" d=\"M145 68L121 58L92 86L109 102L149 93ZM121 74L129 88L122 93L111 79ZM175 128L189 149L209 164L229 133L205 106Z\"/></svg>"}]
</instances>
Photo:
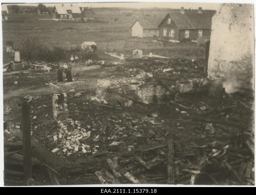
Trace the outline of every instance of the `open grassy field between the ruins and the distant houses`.
<instances>
[{"instance_id":1,"label":"open grassy field between the ruins and the distant houses","mask_svg":"<svg viewBox=\"0 0 256 195\"><path fill-rule=\"evenodd\" d=\"M84 41L95 41L101 52L120 52L130 55L132 49L141 49L143 54L153 52L173 58L204 58L204 47L197 47L195 43L162 43L153 42L157 38L131 37L131 26L137 17L148 18L158 23L167 14L166 10L132 10L123 13L119 9L95 8L94 12L98 22L87 23L38 20L51 16L36 16L32 13L13 14L9 17L10 22L3 23L3 45L7 40L13 40L15 46L20 48L23 37L38 36L49 47L59 46L70 49L80 47Z\"/></svg>"}]
</instances>

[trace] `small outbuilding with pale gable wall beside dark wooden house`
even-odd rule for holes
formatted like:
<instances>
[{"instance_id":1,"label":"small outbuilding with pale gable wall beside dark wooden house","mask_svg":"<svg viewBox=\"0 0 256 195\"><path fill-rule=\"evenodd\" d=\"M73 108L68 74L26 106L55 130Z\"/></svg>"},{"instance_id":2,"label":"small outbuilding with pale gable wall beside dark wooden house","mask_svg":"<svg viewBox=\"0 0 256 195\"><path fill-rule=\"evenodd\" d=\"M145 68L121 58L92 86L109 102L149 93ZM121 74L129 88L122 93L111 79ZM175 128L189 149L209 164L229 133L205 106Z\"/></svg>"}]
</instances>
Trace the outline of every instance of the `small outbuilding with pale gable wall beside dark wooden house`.
<instances>
[{"instance_id":1,"label":"small outbuilding with pale gable wall beside dark wooden house","mask_svg":"<svg viewBox=\"0 0 256 195\"><path fill-rule=\"evenodd\" d=\"M148 20L136 20L132 25L132 37L158 37L159 28L154 22Z\"/></svg>"}]
</instances>

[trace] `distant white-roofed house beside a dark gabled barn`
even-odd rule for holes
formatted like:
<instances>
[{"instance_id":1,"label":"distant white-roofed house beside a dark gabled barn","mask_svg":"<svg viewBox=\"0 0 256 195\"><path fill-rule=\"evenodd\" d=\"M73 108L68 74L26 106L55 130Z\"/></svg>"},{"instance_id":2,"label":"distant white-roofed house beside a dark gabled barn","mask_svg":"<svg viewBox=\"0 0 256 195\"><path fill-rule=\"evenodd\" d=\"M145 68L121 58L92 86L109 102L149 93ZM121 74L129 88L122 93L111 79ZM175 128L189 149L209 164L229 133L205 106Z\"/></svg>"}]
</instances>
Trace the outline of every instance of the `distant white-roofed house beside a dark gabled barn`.
<instances>
[{"instance_id":1,"label":"distant white-roofed house beside a dark gabled barn","mask_svg":"<svg viewBox=\"0 0 256 195\"><path fill-rule=\"evenodd\" d=\"M53 18L79 20L81 19L81 10L79 6L73 4L56 4L53 8Z\"/></svg>"}]
</instances>

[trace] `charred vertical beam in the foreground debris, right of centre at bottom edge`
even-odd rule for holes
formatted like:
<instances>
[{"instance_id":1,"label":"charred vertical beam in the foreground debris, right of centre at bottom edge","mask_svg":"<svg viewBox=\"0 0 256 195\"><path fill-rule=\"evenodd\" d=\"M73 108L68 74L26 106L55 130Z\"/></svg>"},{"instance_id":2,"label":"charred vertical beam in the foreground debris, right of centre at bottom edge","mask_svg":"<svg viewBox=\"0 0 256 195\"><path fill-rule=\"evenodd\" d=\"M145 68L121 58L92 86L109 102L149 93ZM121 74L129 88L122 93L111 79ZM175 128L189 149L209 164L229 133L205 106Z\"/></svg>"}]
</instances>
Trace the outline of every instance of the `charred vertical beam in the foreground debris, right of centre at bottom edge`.
<instances>
[{"instance_id":1,"label":"charred vertical beam in the foreground debris, right of centre at bottom edge","mask_svg":"<svg viewBox=\"0 0 256 195\"><path fill-rule=\"evenodd\" d=\"M169 140L168 159L167 159L167 184L175 184L175 164L174 164L174 143Z\"/></svg>"}]
</instances>

